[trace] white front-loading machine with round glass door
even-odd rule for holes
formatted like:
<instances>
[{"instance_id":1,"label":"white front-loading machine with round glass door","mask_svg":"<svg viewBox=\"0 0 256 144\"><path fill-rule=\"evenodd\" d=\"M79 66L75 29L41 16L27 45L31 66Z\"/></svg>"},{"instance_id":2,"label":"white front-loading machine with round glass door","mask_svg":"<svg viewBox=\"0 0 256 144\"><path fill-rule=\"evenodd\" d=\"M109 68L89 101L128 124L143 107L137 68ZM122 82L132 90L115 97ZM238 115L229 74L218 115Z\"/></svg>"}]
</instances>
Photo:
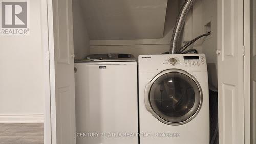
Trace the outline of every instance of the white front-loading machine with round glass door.
<instances>
[{"instance_id":1,"label":"white front-loading machine with round glass door","mask_svg":"<svg viewBox=\"0 0 256 144\"><path fill-rule=\"evenodd\" d=\"M139 56L141 144L209 143L204 54Z\"/></svg>"}]
</instances>

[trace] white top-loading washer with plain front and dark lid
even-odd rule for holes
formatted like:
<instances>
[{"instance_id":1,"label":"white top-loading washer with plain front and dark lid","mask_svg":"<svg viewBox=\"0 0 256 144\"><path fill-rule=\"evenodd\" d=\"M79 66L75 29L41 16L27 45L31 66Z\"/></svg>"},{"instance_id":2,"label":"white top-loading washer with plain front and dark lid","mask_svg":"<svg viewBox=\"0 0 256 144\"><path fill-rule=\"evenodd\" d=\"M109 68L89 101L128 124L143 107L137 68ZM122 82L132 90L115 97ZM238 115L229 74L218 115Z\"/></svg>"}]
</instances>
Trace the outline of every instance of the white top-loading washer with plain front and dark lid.
<instances>
[{"instance_id":1,"label":"white top-loading washer with plain front and dark lid","mask_svg":"<svg viewBox=\"0 0 256 144\"><path fill-rule=\"evenodd\" d=\"M126 54L75 63L77 143L137 144L137 62Z\"/></svg>"}]
</instances>

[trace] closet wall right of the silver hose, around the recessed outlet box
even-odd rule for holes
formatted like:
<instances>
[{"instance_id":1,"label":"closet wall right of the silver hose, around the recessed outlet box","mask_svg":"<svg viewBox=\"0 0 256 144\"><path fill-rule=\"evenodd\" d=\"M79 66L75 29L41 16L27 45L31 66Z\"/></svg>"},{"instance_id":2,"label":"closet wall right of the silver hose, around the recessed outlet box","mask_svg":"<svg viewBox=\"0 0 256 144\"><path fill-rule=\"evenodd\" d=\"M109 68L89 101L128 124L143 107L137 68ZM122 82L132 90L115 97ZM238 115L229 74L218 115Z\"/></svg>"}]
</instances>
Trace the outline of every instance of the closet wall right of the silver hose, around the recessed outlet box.
<instances>
[{"instance_id":1,"label":"closet wall right of the silver hose, around the recessed outlet box","mask_svg":"<svg viewBox=\"0 0 256 144\"><path fill-rule=\"evenodd\" d=\"M204 26L211 23L211 36L203 37L193 44L193 48L199 53L204 53L207 59L209 88L216 89L217 81L217 1L197 0L193 11L188 14L183 41L189 41L206 33Z\"/></svg>"}]
</instances>

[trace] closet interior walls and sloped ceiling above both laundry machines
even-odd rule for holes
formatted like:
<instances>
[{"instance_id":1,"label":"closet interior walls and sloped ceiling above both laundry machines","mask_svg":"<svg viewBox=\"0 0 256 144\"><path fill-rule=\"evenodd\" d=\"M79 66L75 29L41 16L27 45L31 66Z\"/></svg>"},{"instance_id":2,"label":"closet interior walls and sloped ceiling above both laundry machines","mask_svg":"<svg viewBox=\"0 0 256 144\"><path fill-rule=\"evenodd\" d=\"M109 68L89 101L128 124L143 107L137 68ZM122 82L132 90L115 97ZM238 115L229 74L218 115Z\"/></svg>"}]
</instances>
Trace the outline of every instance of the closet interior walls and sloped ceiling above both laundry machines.
<instances>
[{"instance_id":1,"label":"closet interior walls and sloped ceiling above both laundry machines","mask_svg":"<svg viewBox=\"0 0 256 144\"><path fill-rule=\"evenodd\" d=\"M75 59L89 54L128 53L138 58L169 52L183 3L73 0ZM209 31L211 35L197 40L193 48L206 55L209 84L217 89L217 1L195 1L186 18L180 44Z\"/></svg>"}]
</instances>

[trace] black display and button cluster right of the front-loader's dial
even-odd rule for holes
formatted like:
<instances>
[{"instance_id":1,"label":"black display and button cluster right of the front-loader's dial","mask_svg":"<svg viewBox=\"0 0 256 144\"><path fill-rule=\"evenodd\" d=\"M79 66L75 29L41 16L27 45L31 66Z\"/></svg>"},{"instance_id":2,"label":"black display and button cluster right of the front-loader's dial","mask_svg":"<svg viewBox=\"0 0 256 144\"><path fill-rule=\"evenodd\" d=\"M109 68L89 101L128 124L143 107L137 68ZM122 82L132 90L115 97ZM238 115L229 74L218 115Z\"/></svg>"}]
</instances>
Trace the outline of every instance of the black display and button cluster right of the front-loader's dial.
<instances>
[{"instance_id":1,"label":"black display and button cluster right of the front-loader's dial","mask_svg":"<svg viewBox=\"0 0 256 144\"><path fill-rule=\"evenodd\" d=\"M205 63L204 56L184 56L185 66L200 66Z\"/></svg>"}]
</instances>

